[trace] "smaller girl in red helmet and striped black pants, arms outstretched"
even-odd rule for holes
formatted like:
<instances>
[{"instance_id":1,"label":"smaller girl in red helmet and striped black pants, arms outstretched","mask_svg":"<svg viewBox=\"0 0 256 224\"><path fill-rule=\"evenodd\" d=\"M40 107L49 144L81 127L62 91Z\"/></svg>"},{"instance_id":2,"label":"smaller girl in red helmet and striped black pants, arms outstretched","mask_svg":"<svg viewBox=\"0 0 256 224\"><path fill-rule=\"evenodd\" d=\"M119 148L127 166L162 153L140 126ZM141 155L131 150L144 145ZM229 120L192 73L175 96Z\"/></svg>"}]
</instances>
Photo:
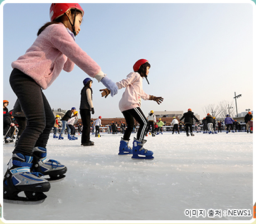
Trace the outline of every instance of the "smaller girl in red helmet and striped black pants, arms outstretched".
<instances>
[{"instance_id":1,"label":"smaller girl in red helmet and striped black pants, arms outstretched","mask_svg":"<svg viewBox=\"0 0 256 224\"><path fill-rule=\"evenodd\" d=\"M148 121L141 110L141 99L143 100L155 100L158 104L163 101L162 97L155 97L148 95L143 91L143 77L146 80L148 77L150 64L146 59L138 60L133 66L133 71L127 75L126 79L116 82L118 89L126 88L119 102L119 109L123 113L127 128L125 134L120 141L119 155L131 154L131 158L134 159L153 159L153 152L143 148L146 140L144 140ZM102 96L107 97L111 91L108 89L102 89ZM140 124L137 136L133 140L133 149L128 146L131 132L134 127L134 119Z\"/></svg>"}]
</instances>

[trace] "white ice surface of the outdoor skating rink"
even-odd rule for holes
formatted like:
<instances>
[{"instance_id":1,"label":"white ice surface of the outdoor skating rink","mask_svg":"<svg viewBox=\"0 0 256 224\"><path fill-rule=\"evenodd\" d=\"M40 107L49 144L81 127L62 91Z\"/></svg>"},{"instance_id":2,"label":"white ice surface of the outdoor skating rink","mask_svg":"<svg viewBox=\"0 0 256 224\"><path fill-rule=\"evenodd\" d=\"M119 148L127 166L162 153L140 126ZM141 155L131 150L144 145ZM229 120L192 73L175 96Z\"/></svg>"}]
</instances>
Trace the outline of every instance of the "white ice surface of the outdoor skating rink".
<instances>
[{"instance_id":1,"label":"white ice surface of the outdoor skating rink","mask_svg":"<svg viewBox=\"0 0 256 224\"><path fill-rule=\"evenodd\" d=\"M131 138L135 136L132 134ZM91 135L95 146L82 147L81 136L71 141L66 136L58 140L51 135L48 158L68 167L66 178L51 183L48 197L40 205L4 203L3 218L84 222L252 219L224 216L228 209L252 211L252 134L148 135L145 148L153 150L155 156L151 161L118 155L121 137ZM4 144L3 172L13 147L14 144ZM185 210L192 209L204 210L205 218L186 216ZM211 217L210 209L216 214L221 211L222 217Z\"/></svg>"}]
</instances>

